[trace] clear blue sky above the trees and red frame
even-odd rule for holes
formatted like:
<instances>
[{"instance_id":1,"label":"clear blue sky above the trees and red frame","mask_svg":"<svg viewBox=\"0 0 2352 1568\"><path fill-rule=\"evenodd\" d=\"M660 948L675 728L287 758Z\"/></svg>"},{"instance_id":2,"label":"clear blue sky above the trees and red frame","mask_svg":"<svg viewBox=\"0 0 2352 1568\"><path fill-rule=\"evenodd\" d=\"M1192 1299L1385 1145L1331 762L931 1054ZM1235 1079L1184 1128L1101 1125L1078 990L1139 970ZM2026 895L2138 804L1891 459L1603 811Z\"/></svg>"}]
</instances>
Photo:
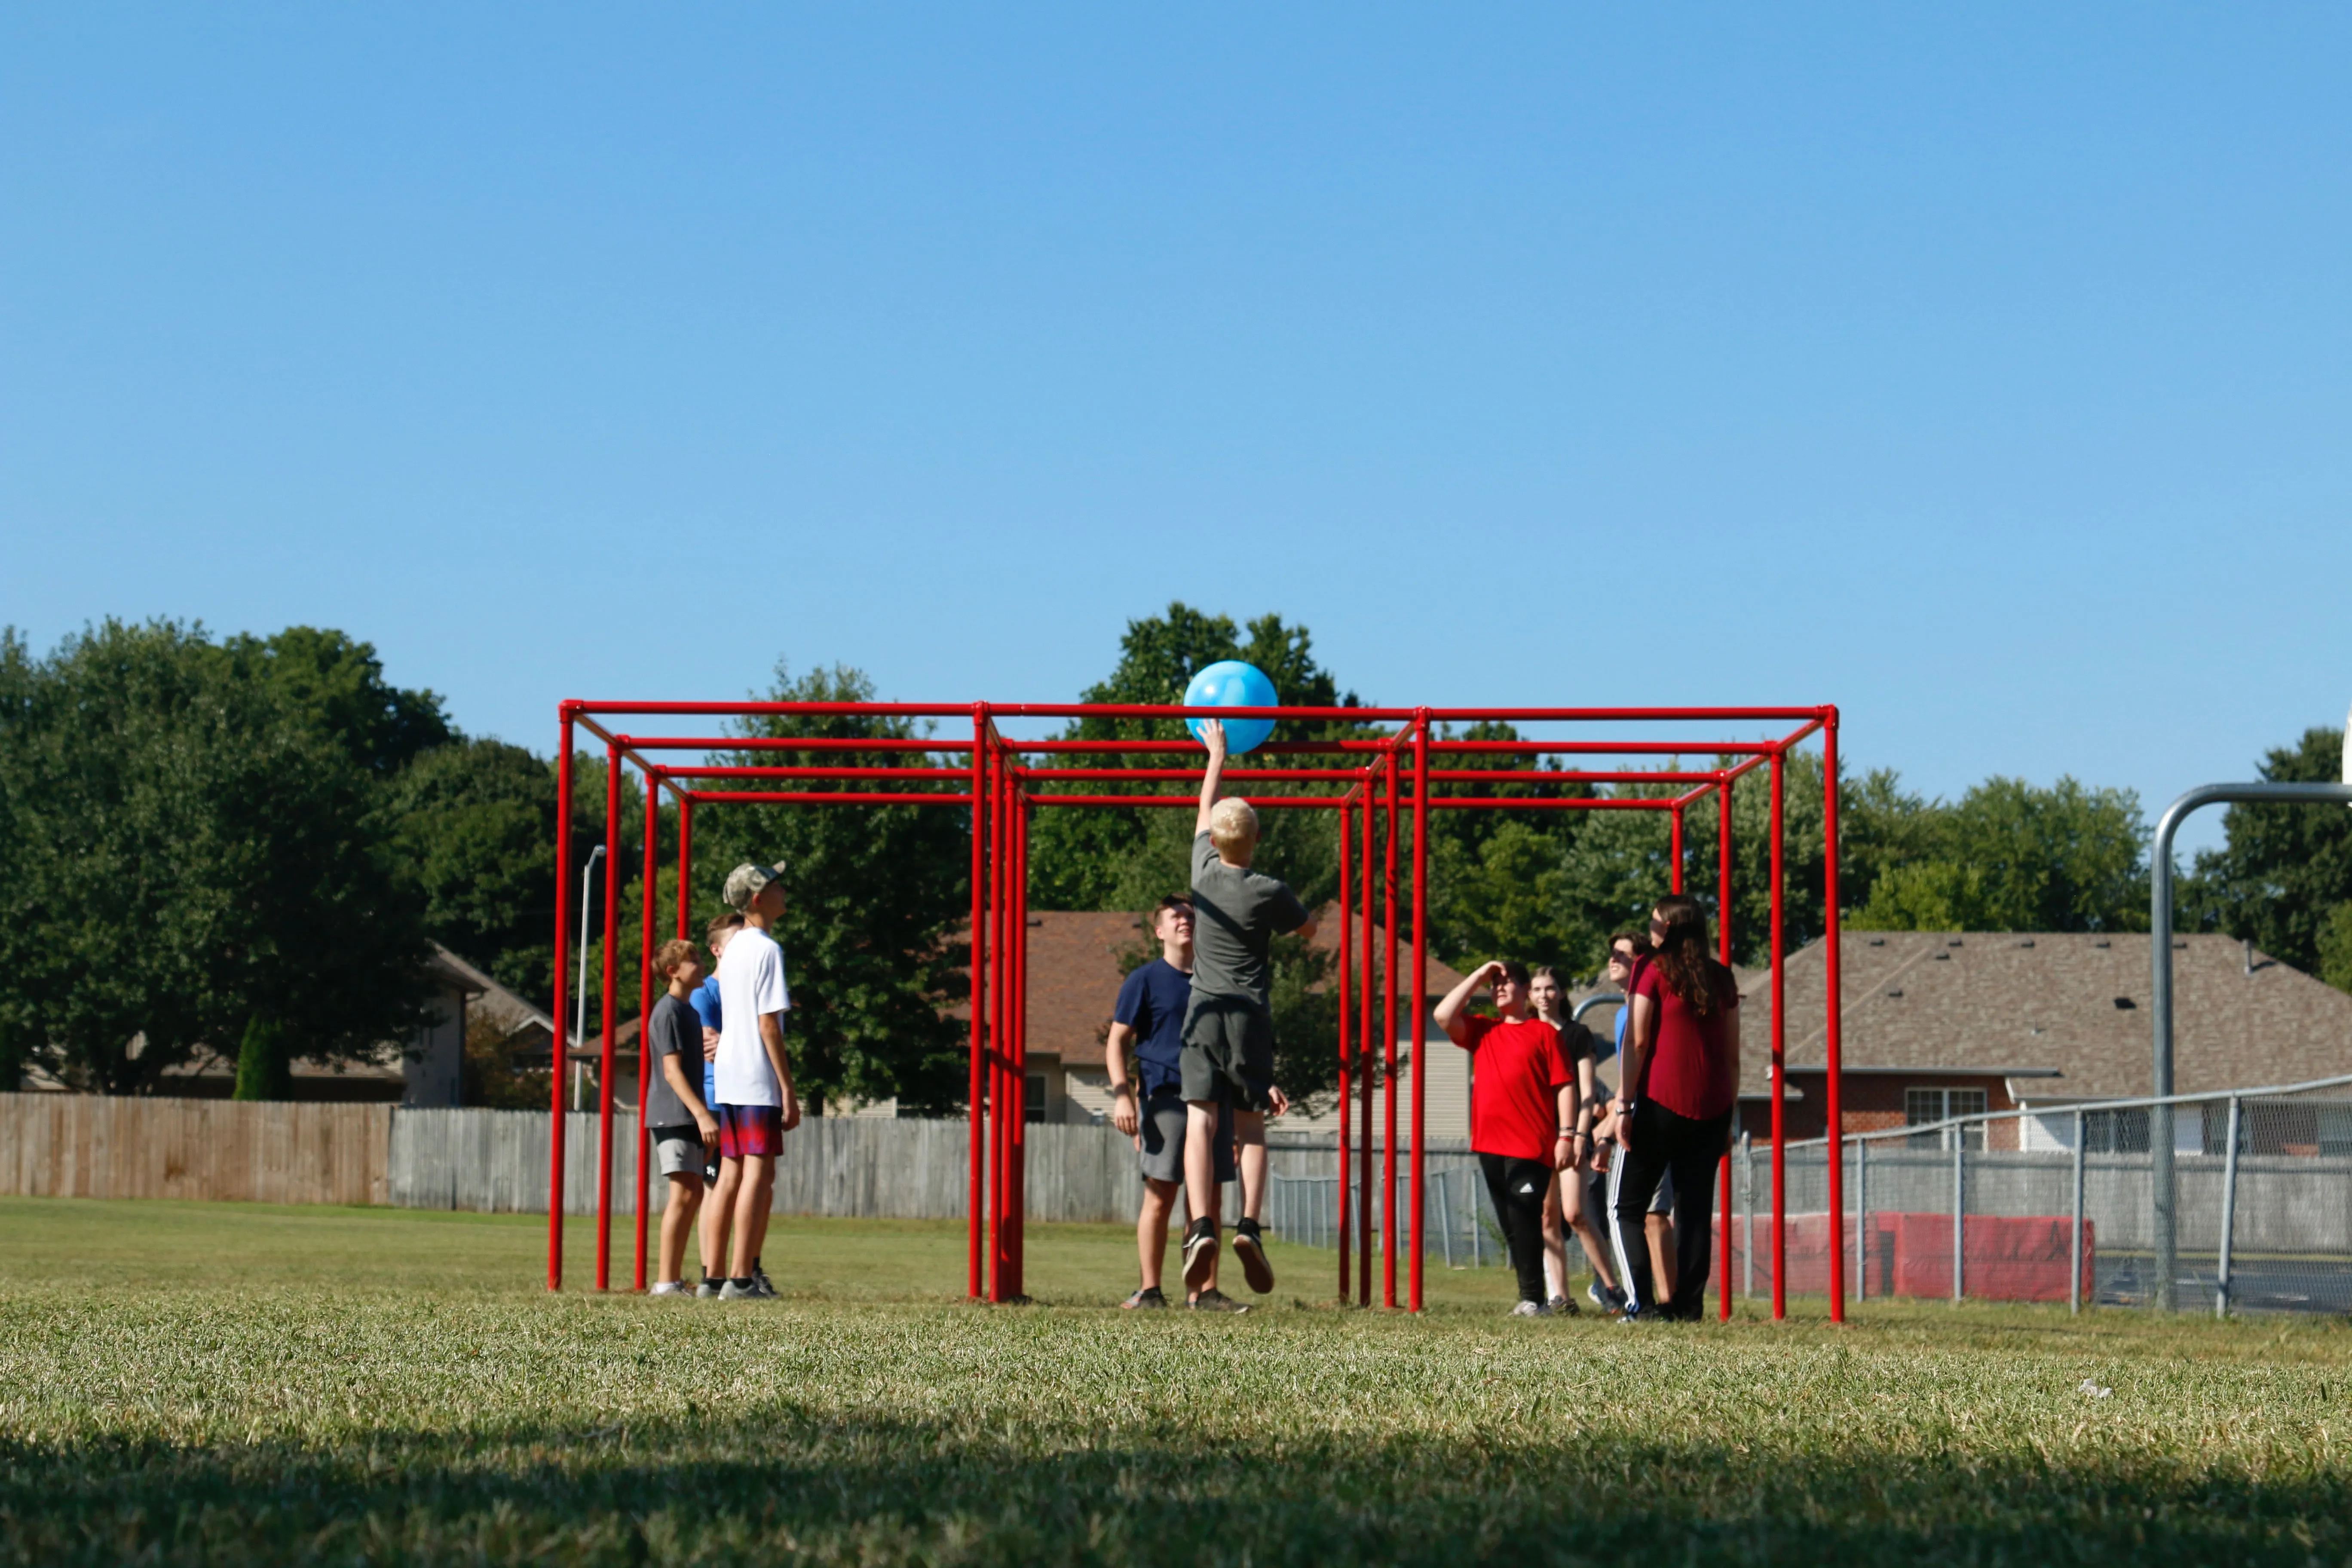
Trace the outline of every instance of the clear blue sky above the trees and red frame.
<instances>
[{"instance_id":1,"label":"clear blue sky above the trees and red frame","mask_svg":"<svg viewBox=\"0 0 2352 1568\"><path fill-rule=\"evenodd\" d=\"M1465 16L1475 9L1475 16ZM564 696L1818 703L2150 806L2352 698L2343 7L12 7L0 621Z\"/></svg>"}]
</instances>

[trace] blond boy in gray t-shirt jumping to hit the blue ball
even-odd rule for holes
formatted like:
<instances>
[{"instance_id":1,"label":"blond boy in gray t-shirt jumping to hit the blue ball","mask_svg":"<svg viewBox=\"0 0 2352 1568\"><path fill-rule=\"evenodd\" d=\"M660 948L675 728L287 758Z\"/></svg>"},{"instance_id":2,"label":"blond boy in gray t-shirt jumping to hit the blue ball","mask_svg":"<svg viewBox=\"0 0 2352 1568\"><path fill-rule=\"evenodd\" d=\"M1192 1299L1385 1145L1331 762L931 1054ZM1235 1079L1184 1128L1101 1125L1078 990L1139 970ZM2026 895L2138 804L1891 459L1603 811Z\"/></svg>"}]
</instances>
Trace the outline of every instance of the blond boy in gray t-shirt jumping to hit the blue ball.
<instances>
[{"instance_id":1,"label":"blond boy in gray t-shirt jumping to hit the blue ball","mask_svg":"<svg viewBox=\"0 0 2352 1568\"><path fill-rule=\"evenodd\" d=\"M1315 919L1279 879L1249 870L1258 853L1258 813L1247 799L1218 799L1225 771L1225 726L1202 724L1209 771L1200 780L1192 818L1192 1004L1183 1018L1185 1157L1183 1185L1192 1225L1183 1239L1185 1284L1200 1288L1216 1262L1216 1114L1232 1105L1232 1138L1242 1152L1242 1220L1232 1251L1258 1295L1275 1288L1275 1269L1258 1237L1265 1201L1265 1114L1289 1100L1275 1088L1275 985L1265 947L1275 936L1315 936Z\"/></svg>"}]
</instances>

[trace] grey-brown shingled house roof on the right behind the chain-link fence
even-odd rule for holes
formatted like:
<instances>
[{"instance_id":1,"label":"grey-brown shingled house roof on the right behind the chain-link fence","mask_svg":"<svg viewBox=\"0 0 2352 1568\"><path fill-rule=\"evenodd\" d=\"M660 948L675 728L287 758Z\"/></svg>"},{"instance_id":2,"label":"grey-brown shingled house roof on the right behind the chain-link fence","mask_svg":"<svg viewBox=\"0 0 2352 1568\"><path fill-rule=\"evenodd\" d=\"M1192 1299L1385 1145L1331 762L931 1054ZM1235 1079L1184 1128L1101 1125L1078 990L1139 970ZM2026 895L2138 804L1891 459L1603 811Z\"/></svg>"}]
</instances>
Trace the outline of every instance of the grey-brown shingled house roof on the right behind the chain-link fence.
<instances>
[{"instance_id":1,"label":"grey-brown shingled house roof on the right behind the chain-link fence","mask_svg":"<svg viewBox=\"0 0 2352 1568\"><path fill-rule=\"evenodd\" d=\"M2020 1079L2013 1098L2032 1103L2145 1095L2147 940L1849 931L1839 940L1839 1056L1851 1070L1999 1072ZM2263 952L2249 973L2246 952L2227 936L2173 938L2176 1093L2352 1074L2352 997ZM1816 940L1788 959L1792 1077L1825 1063L1823 957ZM1769 971L1743 976L1743 1095L1766 1095L1769 997Z\"/></svg>"}]
</instances>

